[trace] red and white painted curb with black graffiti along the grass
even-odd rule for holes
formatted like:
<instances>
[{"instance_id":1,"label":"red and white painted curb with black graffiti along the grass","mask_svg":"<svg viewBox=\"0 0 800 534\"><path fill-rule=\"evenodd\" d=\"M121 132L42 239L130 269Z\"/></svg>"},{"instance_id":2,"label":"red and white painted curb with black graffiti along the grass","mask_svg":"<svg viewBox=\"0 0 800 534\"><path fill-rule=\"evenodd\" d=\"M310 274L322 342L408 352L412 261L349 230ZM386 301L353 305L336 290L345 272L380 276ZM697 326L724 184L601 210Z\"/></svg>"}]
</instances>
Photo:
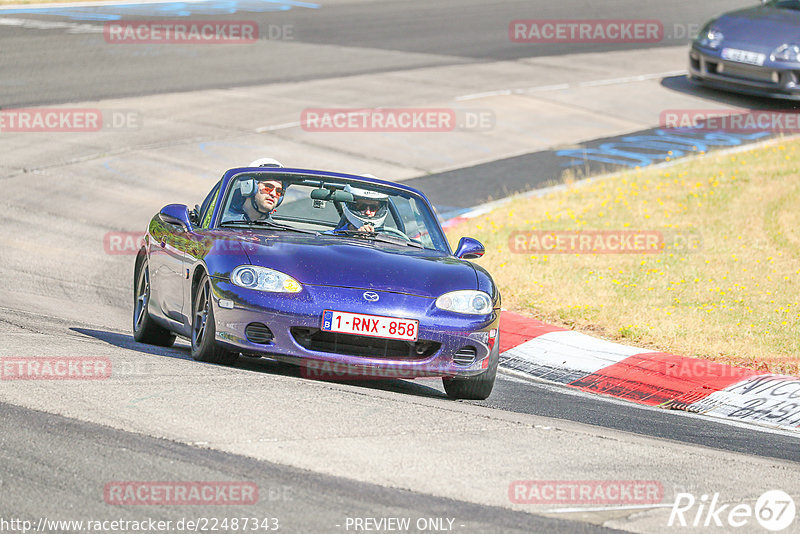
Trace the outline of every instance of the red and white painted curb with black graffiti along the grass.
<instances>
[{"instance_id":1,"label":"red and white painted curb with black graffiti along the grass","mask_svg":"<svg viewBox=\"0 0 800 534\"><path fill-rule=\"evenodd\" d=\"M503 312L502 368L639 404L800 430L800 378L629 347Z\"/></svg>"}]
</instances>

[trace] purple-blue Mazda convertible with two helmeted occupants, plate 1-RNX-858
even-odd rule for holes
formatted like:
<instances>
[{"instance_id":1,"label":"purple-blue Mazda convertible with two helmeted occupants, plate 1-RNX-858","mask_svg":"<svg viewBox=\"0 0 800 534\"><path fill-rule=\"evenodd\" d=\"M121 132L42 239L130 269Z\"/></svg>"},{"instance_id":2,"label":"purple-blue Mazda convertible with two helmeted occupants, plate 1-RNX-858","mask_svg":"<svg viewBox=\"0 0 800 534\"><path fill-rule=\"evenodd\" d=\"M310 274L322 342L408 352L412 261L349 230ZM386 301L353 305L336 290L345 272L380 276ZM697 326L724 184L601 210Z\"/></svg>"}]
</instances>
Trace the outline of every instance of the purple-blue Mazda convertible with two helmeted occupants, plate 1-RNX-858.
<instances>
[{"instance_id":1,"label":"purple-blue Mazda convertible with two helmeted occupants, plate 1-RNX-858","mask_svg":"<svg viewBox=\"0 0 800 534\"><path fill-rule=\"evenodd\" d=\"M170 204L150 221L134 337L168 346L180 335L196 360L266 356L332 371L323 378L442 377L450 397L485 399L500 295L467 261L483 252L467 237L452 252L429 201L402 184L231 169L202 205Z\"/></svg>"}]
</instances>

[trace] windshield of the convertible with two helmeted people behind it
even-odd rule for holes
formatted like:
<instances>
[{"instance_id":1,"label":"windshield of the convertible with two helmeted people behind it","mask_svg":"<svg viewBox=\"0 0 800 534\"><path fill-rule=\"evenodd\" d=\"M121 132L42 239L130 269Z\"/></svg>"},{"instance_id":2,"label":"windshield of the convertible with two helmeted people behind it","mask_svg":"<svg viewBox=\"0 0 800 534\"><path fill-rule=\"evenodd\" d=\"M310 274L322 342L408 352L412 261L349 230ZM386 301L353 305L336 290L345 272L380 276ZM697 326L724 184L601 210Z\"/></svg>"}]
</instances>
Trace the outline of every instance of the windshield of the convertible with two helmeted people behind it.
<instances>
[{"instance_id":1,"label":"windshield of the convertible with two helmeted people behind it","mask_svg":"<svg viewBox=\"0 0 800 534\"><path fill-rule=\"evenodd\" d=\"M275 205L277 193L283 199ZM369 182L242 173L231 180L222 206L220 226L316 232L449 252L435 215L421 197Z\"/></svg>"}]
</instances>

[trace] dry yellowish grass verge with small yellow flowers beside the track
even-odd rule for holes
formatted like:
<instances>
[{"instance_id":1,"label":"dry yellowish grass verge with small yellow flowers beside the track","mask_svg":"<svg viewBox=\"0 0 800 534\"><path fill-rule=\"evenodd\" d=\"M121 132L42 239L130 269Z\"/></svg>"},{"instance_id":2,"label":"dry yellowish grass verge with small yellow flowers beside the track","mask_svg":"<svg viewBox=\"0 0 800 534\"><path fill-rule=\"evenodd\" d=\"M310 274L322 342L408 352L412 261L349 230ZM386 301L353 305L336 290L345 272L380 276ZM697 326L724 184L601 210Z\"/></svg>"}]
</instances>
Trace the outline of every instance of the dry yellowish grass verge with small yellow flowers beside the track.
<instances>
[{"instance_id":1,"label":"dry yellowish grass verge with small yellow flowers beside the track","mask_svg":"<svg viewBox=\"0 0 800 534\"><path fill-rule=\"evenodd\" d=\"M477 263L507 309L652 350L798 374L799 149L778 142L578 182L513 199L448 235L486 245ZM636 231L666 246L554 254L530 239L557 230Z\"/></svg>"}]
</instances>

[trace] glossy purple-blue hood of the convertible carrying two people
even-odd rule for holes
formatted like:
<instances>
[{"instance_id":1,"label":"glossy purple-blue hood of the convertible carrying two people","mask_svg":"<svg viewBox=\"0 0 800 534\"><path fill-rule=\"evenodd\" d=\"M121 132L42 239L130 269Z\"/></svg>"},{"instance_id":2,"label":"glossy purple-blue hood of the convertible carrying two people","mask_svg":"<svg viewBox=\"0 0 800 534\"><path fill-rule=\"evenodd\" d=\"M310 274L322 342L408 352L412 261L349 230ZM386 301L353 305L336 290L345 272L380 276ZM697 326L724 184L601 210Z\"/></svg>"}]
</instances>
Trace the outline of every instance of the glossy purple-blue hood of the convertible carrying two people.
<instances>
[{"instance_id":1,"label":"glossy purple-blue hood of the convertible carrying two people","mask_svg":"<svg viewBox=\"0 0 800 534\"><path fill-rule=\"evenodd\" d=\"M244 245L252 265L301 284L394 291L436 298L478 289L475 268L443 252L341 236L261 236Z\"/></svg>"}]
</instances>

